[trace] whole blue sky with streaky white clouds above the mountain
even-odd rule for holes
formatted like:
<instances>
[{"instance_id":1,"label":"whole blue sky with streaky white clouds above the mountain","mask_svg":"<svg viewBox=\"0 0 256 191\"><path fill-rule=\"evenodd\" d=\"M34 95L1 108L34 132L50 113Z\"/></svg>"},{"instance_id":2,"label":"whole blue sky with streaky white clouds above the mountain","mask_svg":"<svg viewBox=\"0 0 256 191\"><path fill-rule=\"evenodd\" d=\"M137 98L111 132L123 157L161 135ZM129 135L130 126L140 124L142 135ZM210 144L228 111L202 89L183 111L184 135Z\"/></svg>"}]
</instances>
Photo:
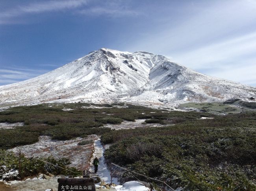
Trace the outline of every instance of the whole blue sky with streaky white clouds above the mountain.
<instances>
[{"instance_id":1,"label":"whole blue sky with streaky white clouds above the mountain","mask_svg":"<svg viewBox=\"0 0 256 191\"><path fill-rule=\"evenodd\" d=\"M0 0L0 85L102 47L256 86L256 0Z\"/></svg>"}]
</instances>

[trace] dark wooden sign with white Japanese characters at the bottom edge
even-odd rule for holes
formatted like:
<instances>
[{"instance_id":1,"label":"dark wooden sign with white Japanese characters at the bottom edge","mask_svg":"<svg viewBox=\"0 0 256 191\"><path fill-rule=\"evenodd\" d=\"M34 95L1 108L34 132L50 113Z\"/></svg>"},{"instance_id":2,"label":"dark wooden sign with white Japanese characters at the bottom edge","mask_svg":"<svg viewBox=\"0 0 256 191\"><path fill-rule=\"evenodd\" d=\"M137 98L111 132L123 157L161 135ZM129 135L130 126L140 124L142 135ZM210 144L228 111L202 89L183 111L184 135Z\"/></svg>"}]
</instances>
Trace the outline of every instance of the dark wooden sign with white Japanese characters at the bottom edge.
<instances>
[{"instance_id":1,"label":"dark wooden sign with white Japanese characters at the bottom edge","mask_svg":"<svg viewBox=\"0 0 256 191\"><path fill-rule=\"evenodd\" d=\"M96 191L93 178L58 178L58 191Z\"/></svg>"}]
</instances>

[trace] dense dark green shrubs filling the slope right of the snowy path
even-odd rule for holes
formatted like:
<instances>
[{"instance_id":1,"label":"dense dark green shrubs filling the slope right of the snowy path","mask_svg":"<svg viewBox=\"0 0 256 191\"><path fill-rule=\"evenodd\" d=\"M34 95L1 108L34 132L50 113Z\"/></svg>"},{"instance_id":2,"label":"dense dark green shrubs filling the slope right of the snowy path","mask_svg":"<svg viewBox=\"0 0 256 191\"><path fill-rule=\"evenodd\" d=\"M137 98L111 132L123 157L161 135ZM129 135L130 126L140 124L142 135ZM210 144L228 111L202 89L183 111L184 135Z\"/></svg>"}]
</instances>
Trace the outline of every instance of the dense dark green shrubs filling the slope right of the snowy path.
<instances>
[{"instance_id":1,"label":"dense dark green shrubs filling the slope right of the snowy path","mask_svg":"<svg viewBox=\"0 0 256 191\"><path fill-rule=\"evenodd\" d=\"M256 113L111 130L101 139L112 143L105 151L109 162L165 180L174 188L256 190ZM124 174L123 178L131 180L132 176Z\"/></svg>"}]
</instances>

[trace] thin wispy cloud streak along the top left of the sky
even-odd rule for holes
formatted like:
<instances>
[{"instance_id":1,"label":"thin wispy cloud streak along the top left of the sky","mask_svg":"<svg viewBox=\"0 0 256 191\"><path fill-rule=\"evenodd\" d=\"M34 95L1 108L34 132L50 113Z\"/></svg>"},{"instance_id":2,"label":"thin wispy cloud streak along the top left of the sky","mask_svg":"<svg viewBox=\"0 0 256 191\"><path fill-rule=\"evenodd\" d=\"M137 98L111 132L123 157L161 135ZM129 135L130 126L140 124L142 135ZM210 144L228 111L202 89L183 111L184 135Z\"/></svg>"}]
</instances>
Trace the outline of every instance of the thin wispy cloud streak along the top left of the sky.
<instances>
[{"instance_id":1,"label":"thin wispy cloud streak along the top left of the sky","mask_svg":"<svg viewBox=\"0 0 256 191\"><path fill-rule=\"evenodd\" d=\"M122 17L141 14L139 11L135 11L134 8L128 6L128 2L119 0L50 0L22 6L18 5L13 9L0 12L0 24L26 23L26 21L22 20L22 17L26 15L69 11L70 9L72 9L72 14L89 16Z\"/></svg>"}]
</instances>

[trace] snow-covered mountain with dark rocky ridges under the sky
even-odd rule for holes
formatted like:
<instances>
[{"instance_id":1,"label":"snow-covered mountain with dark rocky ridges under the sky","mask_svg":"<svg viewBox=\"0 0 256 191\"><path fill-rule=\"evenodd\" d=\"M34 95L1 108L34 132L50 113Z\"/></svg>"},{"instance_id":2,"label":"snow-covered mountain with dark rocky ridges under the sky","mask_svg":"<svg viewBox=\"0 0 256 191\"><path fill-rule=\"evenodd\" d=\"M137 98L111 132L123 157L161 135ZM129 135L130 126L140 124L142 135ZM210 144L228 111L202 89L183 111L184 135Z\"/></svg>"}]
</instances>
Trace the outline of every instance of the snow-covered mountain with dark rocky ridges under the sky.
<instances>
[{"instance_id":1,"label":"snow-covered mountain with dark rocky ridges under the sky","mask_svg":"<svg viewBox=\"0 0 256 191\"><path fill-rule=\"evenodd\" d=\"M36 78L0 86L0 107L78 101L171 106L255 95L255 87L200 74L161 55L102 48Z\"/></svg>"}]
</instances>

